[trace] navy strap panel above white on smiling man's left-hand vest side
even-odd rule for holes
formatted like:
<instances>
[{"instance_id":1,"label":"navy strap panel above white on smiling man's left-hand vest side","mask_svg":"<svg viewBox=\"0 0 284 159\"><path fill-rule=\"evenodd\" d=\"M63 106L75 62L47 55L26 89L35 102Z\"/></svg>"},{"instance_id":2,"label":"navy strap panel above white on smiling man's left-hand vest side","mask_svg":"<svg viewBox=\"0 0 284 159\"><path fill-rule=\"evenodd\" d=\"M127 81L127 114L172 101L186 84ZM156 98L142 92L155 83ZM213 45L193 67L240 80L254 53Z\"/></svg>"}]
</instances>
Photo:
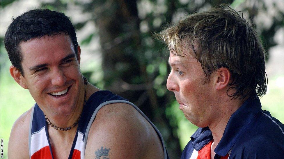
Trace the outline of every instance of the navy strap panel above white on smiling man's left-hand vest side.
<instances>
[{"instance_id":1,"label":"navy strap panel above white on smiling man's left-hand vest side","mask_svg":"<svg viewBox=\"0 0 284 159\"><path fill-rule=\"evenodd\" d=\"M33 134L36 131L39 131L42 127L45 126L45 116L38 107L38 104L35 105L35 108L33 110L33 124L31 126L31 134Z\"/></svg>"}]
</instances>

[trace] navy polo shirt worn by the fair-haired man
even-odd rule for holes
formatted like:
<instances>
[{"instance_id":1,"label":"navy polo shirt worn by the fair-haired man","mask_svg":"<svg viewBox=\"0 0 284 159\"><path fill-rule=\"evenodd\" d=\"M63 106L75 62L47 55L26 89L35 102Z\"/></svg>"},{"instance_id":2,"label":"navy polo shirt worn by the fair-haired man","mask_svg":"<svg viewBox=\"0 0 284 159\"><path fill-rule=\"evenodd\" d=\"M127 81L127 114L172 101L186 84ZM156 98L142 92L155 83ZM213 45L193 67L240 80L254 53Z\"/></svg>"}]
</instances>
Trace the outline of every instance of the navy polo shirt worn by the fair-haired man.
<instances>
[{"instance_id":1,"label":"navy polo shirt worn by the fair-haired man","mask_svg":"<svg viewBox=\"0 0 284 159\"><path fill-rule=\"evenodd\" d=\"M284 114L283 114L284 115ZM196 153L213 139L208 127L191 136L181 158L196 158ZM219 144L216 158L284 158L284 125L261 109L259 98L248 98L230 117Z\"/></svg>"}]
</instances>

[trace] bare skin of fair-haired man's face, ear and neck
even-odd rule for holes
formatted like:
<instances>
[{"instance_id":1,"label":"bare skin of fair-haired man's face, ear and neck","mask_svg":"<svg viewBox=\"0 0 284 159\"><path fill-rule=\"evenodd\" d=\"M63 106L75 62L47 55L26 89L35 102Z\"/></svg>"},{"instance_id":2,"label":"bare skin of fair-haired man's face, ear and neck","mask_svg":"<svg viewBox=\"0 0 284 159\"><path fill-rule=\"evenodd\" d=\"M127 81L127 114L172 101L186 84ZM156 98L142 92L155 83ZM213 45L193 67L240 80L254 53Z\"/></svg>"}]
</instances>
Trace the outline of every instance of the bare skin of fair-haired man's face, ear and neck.
<instances>
[{"instance_id":1,"label":"bare skin of fair-haired man's face, ear and neck","mask_svg":"<svg viewBox=\"0 0 284 159\"><path fill-rule=\"evenodd\" d=\"M227 95L230 71L221 67L205 78L201 63L185 52L177 56L170 52L167 88L175 93L184 116L198 127L209 127L212 131L214 150L223 136L230 116L244 100L232 99ZM231 92L229 92L230 94ZM214 158L214 151L211 157Z\"/></svg>"}]
</instances>

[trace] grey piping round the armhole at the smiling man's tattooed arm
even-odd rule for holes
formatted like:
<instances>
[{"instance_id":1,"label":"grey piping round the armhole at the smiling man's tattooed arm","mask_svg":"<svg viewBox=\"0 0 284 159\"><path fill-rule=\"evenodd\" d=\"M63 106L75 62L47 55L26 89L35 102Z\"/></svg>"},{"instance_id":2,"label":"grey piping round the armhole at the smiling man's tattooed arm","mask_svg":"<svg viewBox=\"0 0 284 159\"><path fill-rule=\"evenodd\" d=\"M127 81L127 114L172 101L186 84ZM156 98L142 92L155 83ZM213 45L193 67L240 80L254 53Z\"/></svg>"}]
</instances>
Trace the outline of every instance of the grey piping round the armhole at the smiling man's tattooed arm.
<instances>
[{"instance_id":1,"label":"grey piping round the armhole at the smiling man's tattooed arm","mask_svg":"<svg viewBox=\"0 0 284 159\"><path fill-rule=\"evenodd\" d=\"M126 104L129 104L129 105L132 105L132 107L134 107L145 119L148 120L148 122L152 125L152 127L155 129L155 131L157 132L157 134L159 135L159 137L161 138L161 143L162 143L162 146L163 146L163 150L164 150L164 158L166 159L167 158L167 153L166 153L166 147L165 147L165 144L164 144L164 139L163 139L163 136L162 134L160 133L160 131L157 129L157 127L151 122L151 120L138 108L136 107L136 105L134 105L133 103L127 101L127 100L109 100L109 101L106 101L102 104L100 104L94 111L89 123L88 123L88 126L87 126L87 129L86 129L86 133L85 133L85 137L84 137L84 141L85 141L85 149L86 149L86 145L87 145L87 140L88 140L88 134L89 134L89 131L90 131L90 128L92 126L92 123L93 121L95 120L95 117L97 115L97 112L99 112L99 110L105 106L105 105L108 105L108 104L113 104L113 103L126 103Z\"/></svg>"}]
</instances>

